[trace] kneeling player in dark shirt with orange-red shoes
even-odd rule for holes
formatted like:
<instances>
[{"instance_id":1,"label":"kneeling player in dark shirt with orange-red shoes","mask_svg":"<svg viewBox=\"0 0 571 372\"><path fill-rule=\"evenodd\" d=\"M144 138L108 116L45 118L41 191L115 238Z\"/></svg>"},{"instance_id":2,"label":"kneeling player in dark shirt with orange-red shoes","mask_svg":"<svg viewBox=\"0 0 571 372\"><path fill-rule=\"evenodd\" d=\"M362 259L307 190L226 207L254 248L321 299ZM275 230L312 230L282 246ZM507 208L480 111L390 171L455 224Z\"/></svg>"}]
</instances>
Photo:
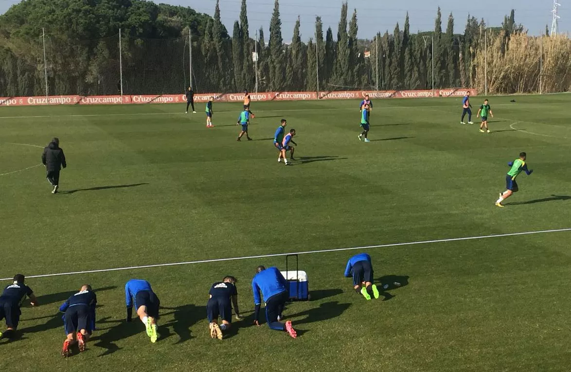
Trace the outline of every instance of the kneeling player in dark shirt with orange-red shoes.
<instances>
[{"instance_id":1,"label":"kneeling player in dark shirt with orange-red shoes","mask_svg":"<svg viewBox=\"0 0 571 372\"><path fill-rule=\"evenodd\" d=\"M62 347L63 357L71 355L70 346L76 342L79 352L85 351L87 340L93 330L96 304L97 296L88 284L83 285L78 293L75 293L62 306L59 306L59 311L65 313L63 315L63 327L67 335Z\"/></svg>"}]
</instances>

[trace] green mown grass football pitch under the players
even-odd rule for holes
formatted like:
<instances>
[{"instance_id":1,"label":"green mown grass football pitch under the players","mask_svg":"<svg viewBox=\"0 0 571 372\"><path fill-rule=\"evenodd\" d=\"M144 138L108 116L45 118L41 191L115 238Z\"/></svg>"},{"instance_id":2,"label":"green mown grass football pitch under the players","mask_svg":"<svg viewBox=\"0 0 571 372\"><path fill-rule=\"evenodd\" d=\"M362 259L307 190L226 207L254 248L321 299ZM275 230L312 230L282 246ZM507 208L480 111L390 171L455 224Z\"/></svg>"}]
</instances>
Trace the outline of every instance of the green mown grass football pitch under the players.
<instances>
[{"instance_id":1,"label":"green mown grass football pitch under the players","mask_svg":"<svg viewBox=\"0 0 571 372\"><path fill-rule=\"evenodd\" d=\"M204 104L0 108L0 277L571 228L571 95L492 98L492 134L459 124L460 98L374 104L370 143L357 140L356 101L255 102L242 142L239 103L215 103L212 129ZM297 130L290 167L272 146L280 118ZM33 167L53 136L68 161L57 195ZM520 151L534 173L497 208ZM409 277L386 301L343 277L359 250L303 254L312 300L284 312L297 339L251 326L254 269L285 269L284 257L29 278L41 306L22 309L20 339L0 341L0 369L568 371L570 238L366 249L378 281ZM207 293L228 274L247 318L219 341ZM124 322L134 277L164 306L155 344ZM58 306L86 282L99 329L63 359Z\"/></svg>"}]
</instances>

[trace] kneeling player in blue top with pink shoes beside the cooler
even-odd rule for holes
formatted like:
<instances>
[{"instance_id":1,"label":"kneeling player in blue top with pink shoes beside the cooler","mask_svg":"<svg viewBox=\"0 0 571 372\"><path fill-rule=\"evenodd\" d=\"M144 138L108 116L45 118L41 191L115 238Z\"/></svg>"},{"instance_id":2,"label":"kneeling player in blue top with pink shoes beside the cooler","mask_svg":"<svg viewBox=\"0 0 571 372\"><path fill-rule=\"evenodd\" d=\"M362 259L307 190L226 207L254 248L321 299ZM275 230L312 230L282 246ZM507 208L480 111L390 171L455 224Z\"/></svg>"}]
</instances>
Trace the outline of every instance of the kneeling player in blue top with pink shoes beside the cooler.
<instances>
[{"instance_id":1,"label":"kneeling player in blue top with pink shoes beside the cooler","mask_svg":"<svg viewBox=\"0 0 571 372\"><path fill-rule=\"evenodd\" d=\"M282 324L282 312L286 301L289 299L288 282L283 277L280 270L275 267L266 269L264 266L256 268L256 275L252 279L252 291L254 292L254 324L260 325L258 318L260 316L260 307L262 306L262 298L260 292L266 302L266 321L271 329L279 331L287 331L291 337L296 338L297 333L293 329L291 321Z\"/></svg>"}]
</instances>

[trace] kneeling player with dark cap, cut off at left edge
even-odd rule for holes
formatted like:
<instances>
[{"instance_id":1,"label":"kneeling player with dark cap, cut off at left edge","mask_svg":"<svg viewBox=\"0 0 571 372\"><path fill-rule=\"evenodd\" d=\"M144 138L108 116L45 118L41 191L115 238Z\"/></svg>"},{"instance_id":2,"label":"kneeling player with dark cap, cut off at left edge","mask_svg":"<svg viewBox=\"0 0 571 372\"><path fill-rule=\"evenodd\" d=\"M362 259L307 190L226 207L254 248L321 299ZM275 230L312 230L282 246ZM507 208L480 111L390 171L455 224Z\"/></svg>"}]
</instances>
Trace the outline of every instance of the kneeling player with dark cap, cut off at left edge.
<instances>
[{"instance_id":1,"label":"kneeling player with dark cap, cut off at left edge","mask_svg":"<svg viewBox=\"0 0 571 372\"><path fill-rule=\"evenodd\" d=\"M24 280L25 277L22 274L15 274L14 282L7 285L0 296L0 320L5 319L7 327L3 333L0 332L0 338L15 338L22 314L20 307L23 305L26 296L30 298L32 306L38 304L38 299L33 290L24 284Z\"/></svg>"}]
</instances>

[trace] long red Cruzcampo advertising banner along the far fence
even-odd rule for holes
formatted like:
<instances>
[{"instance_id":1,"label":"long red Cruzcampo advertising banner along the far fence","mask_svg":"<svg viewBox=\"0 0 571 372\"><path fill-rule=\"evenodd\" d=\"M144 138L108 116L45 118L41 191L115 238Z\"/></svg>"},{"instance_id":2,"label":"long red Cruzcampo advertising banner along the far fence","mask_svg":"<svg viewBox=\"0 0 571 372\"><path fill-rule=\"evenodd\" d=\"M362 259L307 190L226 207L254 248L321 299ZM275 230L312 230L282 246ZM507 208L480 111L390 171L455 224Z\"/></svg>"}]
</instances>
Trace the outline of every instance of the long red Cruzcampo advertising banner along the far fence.
<instances>
[{"instance_id":1,"label":"long red Cruzcampo advertising banner along the far fence","mask_svg":"<svg viewBox=\"0 0 571 372\"><path fill-rule=\"evenodd\" d=\"M432 90L403 90L403 91L335 91L335 92L264 92L252 93L252 101L287 101L287 100L317 100L317 99L363 99L369 98L430 98L430 97L461 97L470 92L477 95L475 89L449 88ZM243 93L202 93L194 95L194 102L207 102L210 98L217 102L243 102ZM184 94L165 95L123 95L123 96L48 96L48 97L0 97L1 106L41 106L54 104L144 104L144 103L183 103Z\"/></svg>"}]
</instances>

